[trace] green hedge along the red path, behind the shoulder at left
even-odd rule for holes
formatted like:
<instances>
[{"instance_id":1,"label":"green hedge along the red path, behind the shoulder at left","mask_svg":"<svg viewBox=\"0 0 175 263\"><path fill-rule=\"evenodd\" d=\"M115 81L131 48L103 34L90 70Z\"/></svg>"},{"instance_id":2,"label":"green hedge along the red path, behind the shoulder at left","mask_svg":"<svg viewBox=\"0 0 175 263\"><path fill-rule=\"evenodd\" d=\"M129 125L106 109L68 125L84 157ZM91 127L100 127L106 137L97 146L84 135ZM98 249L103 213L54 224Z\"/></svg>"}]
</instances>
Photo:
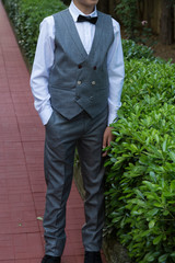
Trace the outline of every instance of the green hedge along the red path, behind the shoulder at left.
<instances>
[{"instance_id":1,"label":"green hedge along the red path, behind the shoulder at left","mask_svg":"<svg viewBox=\"0 0 175 263\"><path fill-rule=\"evenodd\" d=\"M3 0L18 35L19 44L32 65L42 20L66 9L60 0Z\"/></svg>"}]
</instances>

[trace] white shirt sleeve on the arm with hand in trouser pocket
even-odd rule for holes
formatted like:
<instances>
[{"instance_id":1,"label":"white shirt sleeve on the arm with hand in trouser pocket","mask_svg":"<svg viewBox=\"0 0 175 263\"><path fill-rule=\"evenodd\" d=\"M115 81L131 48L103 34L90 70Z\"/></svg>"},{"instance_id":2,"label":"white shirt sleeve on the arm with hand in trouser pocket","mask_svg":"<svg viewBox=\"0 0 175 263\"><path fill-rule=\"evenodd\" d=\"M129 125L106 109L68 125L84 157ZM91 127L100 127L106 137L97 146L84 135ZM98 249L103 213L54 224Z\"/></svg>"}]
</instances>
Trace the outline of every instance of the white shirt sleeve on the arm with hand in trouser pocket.
<instances>
[{"instance_id":1,"label":"white shirt sleeve on the arm with hand in trouser pocket","mask_svg":"<svg viewBox=\"0 0 175 263\"><path fill-rule=\"evenodd\" d=\"M31 88L34 95L34 105L43 124L47 124L51 116L48 77L54 64L55 24L54 18L44 19L39 26L39 36L31 75Z\"/></svg>"}]
</instances>

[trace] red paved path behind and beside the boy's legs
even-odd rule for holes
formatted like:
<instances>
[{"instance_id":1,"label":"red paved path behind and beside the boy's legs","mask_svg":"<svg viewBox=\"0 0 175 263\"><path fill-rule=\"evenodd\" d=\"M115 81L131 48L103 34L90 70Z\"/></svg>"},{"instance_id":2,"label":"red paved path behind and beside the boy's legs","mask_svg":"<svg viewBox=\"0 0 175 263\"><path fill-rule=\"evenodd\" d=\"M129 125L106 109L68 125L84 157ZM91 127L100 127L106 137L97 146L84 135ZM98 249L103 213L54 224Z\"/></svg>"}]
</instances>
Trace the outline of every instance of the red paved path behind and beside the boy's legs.
<instances>
[{"instance_id":1,"label":"red paved path behind and beside the boy's legs","mask_svg":"<svg viewBox=\"0 0 175 263\"><path fill-rule=\"evenodd\" d=\"M30 75L0 1L0 263L40 263L44 254L44 127ZM83 263L83 203L73 184L62 263Z\"/></svg>"}]
</instances>

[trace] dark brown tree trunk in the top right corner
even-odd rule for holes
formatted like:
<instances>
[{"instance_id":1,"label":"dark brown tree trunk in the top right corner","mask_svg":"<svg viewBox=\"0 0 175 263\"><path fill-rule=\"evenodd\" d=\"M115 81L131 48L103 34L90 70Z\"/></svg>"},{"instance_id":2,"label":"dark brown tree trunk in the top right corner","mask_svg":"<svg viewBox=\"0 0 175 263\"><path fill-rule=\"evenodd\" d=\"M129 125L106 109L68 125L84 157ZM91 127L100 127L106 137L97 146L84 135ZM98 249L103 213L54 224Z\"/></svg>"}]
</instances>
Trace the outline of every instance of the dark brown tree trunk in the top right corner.
<instances>
[{"instance_id":1,"label":"dark brown tree trunk in the top right corner","mask_svg":"<svg viewBox=\"0 0 175 263\"><path fill-rule=\"evenodd\" d=\"M164 45L173 44L173 1L162 0L162 14L161 14L161 28L160 28L160 41Z\"/></svg>"}]
</instances>

